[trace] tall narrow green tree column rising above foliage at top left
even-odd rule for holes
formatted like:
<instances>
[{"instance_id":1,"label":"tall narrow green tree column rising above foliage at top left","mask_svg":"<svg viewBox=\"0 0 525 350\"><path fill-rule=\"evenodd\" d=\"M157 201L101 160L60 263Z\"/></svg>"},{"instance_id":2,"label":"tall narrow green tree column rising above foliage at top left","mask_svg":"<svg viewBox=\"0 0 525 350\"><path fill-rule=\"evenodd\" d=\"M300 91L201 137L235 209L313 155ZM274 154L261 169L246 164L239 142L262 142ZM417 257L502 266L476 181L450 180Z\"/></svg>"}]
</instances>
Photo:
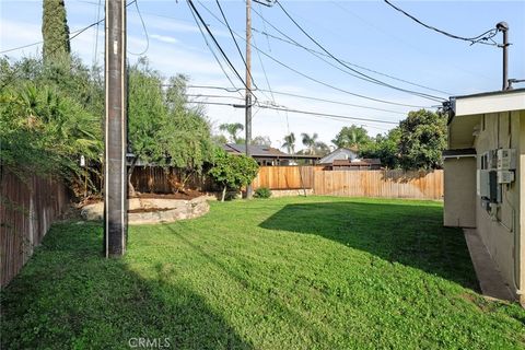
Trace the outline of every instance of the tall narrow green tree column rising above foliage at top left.
<instances>
[{"instance_id":1,"label":"tall narrow green tree column rising above foliage at top left","mask_svg":"<svg viewBox=\"0 0 525 350\"><path fill-rule=\"evenodd\" d=\"M69 56L69 26L63 0L44 0L42 15L42 36L44 37L44 60Z\"/></svg>"}]
</instances>

